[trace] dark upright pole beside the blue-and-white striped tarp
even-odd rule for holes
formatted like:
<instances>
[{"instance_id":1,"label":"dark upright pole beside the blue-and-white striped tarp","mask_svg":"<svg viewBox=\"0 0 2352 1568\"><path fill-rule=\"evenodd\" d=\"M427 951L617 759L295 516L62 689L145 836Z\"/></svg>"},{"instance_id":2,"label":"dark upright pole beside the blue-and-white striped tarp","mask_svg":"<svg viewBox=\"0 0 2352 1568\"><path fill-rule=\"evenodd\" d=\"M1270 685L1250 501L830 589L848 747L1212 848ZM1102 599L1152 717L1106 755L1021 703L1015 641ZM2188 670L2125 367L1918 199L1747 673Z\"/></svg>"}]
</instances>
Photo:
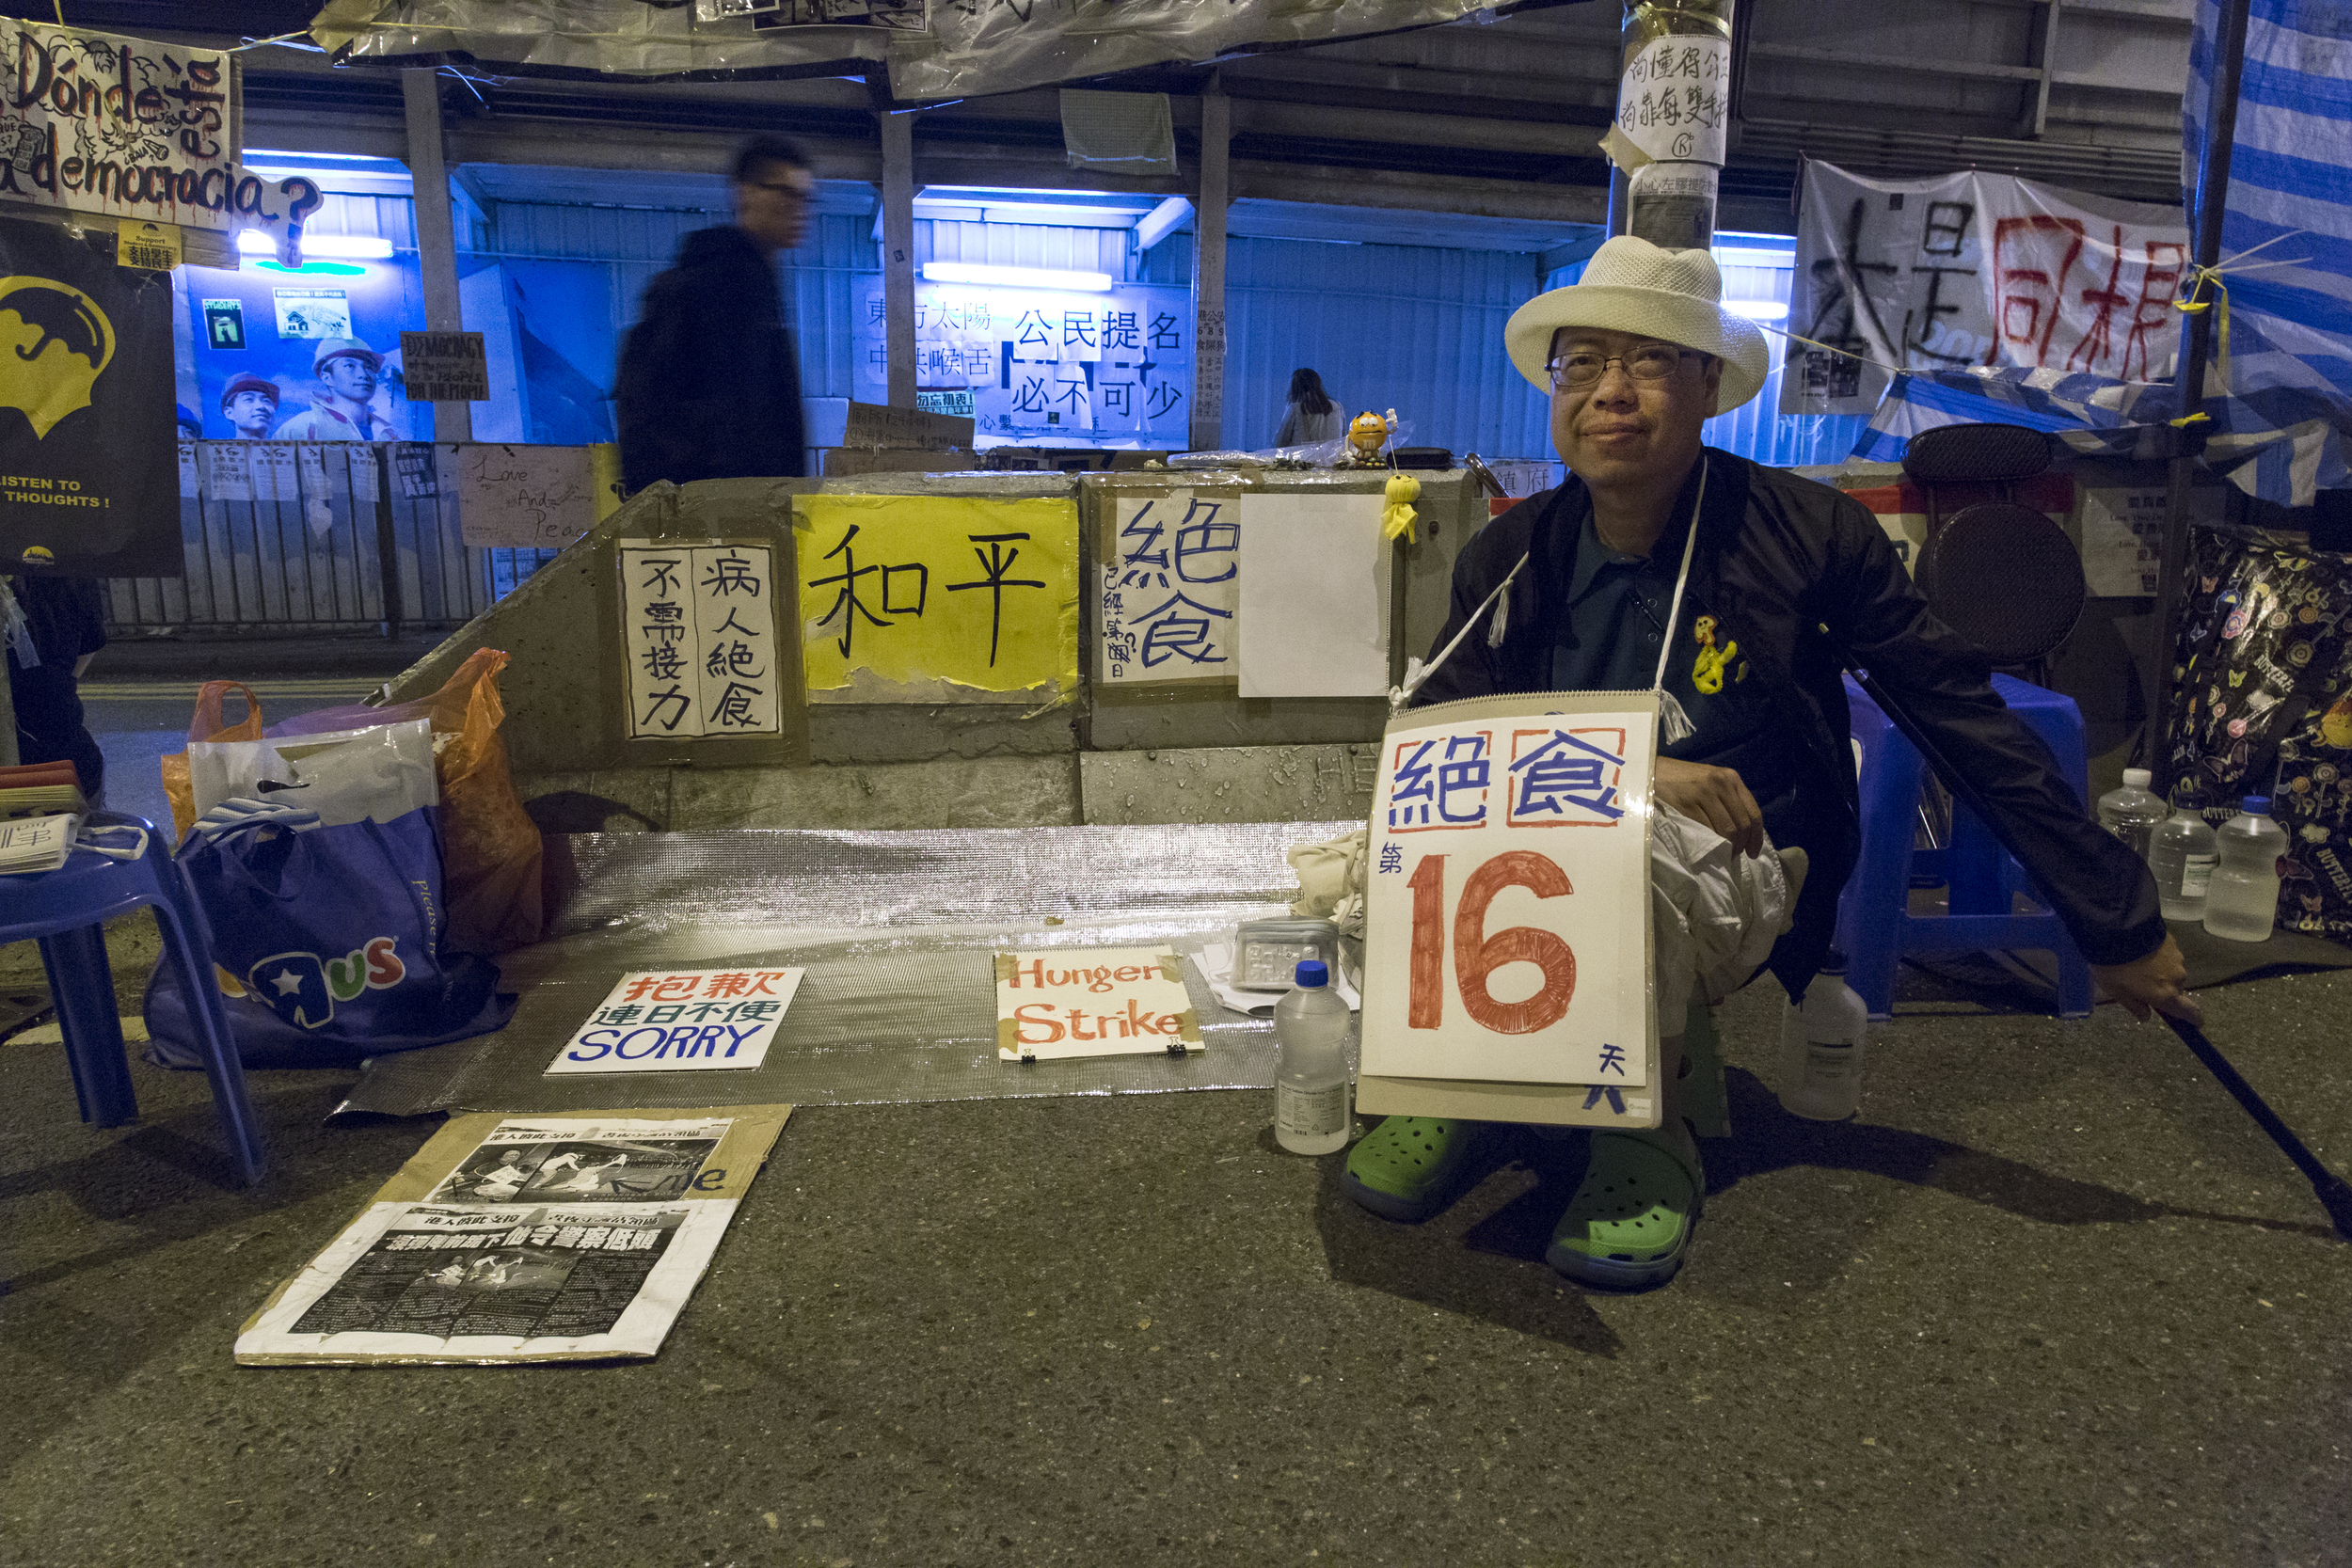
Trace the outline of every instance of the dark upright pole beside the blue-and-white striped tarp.
<instances>
[{"instance_id":1,"label":"dark upright pole beside the blue-and-white striped tarp","mask_svg":"<svg viewBox=\"0 0 2352 1568\"><path fill-rule=\"evenodd\" d=\"M2220 261L2220 223L2230 207L2230 146L2237 141L2237 82L2246 63L2246 12L2251 0L2223 0L2220 26L2213 33L2213 78L2206 82L2204 146L2197 150L2197 235L2192 261L2209 268ZM2204 277L2192 301L2206 299ZM2178 418L2204 411L2206 355L2213 343L2213 310L2185 310L2180 317L2180 364L2176 367ZM2157 635L2147 646L2140 686L2147 693L2147 766L2157 776L2157 795L2171 799L2171 755L2164 722L2173 705L2173 658L2180 642L2180 581L2190 552L2190 473L2204 435L2197 425L2180 428L2180 442L2166 484L2164 569L2157 574Z\"/></svg>"}]
</instances>

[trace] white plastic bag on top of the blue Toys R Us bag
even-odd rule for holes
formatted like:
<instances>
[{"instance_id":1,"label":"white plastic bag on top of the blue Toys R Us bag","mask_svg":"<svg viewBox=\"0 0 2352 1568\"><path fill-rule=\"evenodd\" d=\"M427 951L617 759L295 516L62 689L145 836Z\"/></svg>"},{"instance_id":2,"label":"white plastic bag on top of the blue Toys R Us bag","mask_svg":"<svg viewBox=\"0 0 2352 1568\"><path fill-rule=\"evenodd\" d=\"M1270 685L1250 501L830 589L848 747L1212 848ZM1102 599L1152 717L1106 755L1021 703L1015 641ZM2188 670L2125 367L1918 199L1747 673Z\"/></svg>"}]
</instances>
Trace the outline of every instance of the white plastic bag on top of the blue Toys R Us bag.
<instances>
[{"instance_id":1,"label":"white plastic bag on top of the blue Toys R Us bag","mask_svg":"<svg viewBox=\"0 0 2352 1568\"><path fill-rule=\"evenodd\" d=\"M440 804L433 719L325 736L191 741L188 788L200 816L242 795L318 811L322 827L390 823Z\"/></svg>"}]
</instances>

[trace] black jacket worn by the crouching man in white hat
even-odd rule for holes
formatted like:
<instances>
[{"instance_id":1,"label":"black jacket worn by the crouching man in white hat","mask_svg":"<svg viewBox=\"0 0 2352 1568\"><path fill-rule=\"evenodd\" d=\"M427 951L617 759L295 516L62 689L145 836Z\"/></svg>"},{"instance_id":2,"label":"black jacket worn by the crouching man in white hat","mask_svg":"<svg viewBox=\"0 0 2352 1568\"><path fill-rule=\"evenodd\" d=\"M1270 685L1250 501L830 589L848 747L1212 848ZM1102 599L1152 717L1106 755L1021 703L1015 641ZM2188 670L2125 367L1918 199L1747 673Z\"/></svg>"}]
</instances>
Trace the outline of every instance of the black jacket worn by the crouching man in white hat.
<instances>
[{"instance_id":1,"label":"black jacket worn by the crouching man in white hat","mask_svg":"<svg viewBox=\"0 0 2352 1568\"><path fill-rule=\"evenodd\" d=\"M2093 964L2126 964L2164 943L2157 884L2126 844L2084 813L2042 741L2009 715L1987 682L1985 656L1926 609L1863 503L1797 475L1708 451L1708 503L1682 625L1712 614L1762 679L1783 698L1788 743L1806 752L1792 809L1766 816L1778 844L1799 844L1811 872L1797 926L1771 969L1797 994L1820 966L1837 924L1837 893L1860 846L1851 724L1842 670L1870 670L1940 743L1992 806L1992 832L2034 877ZM1677 501L1689 515L1698 470ZM1486 621L1414 696L1446 703L1503 691L1548 691L1552 646L1590 508L1573 475L1529 496L1463 545L1454 604L1430 658L1463 628L1494 585L1531 555L1510 585L1503 646ZM1679 548L1682 529L1670 529ZM1665 541L1658 545L1665 548Z\"/></svg>"}]
</instances>

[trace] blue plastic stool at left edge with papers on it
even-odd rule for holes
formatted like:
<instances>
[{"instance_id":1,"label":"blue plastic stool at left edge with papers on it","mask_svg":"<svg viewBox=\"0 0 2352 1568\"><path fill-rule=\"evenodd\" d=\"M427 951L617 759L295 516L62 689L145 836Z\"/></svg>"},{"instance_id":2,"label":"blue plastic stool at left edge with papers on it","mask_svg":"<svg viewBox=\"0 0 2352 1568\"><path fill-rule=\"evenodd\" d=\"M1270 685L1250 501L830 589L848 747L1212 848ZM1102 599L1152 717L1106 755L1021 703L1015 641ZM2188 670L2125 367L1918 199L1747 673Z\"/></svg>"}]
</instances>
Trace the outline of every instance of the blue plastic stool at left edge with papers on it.
<instances>
[{"instance_id":1,"label":"blue plastic stool at left edge with papers on it","mask_svg":"<svg viewBox=\"0 0 2352 1568\"><path fill-rule=\"evenodd\" d=\"M106 961L106 926L115 914L139 905L155 910L162 931L162 959L172 964L183 997L193 997L188 1020L212 1079L212 1107L228 1135L228 1152L247 1185L261 1180L268 1159L261 1152L261 1126L245 1098L245 1065L228 1034L221 992L212 978L212 926L188 889L153 823L111 811L92 813L89 825L143 827L146 846L136 860L115 860L89 849L75 849L66 865L31 877L0 877L0 943L40 943L40 961L49 971L49 994L66 1034L66 1060L73 1065L73 1093L82 1103L82 1121L120 1126L139 1114L129 1063L122 1058L122 1020L115 1013L115 976ZM127 835L108 835L127 839Z\"/></svg>"}]
</instances>

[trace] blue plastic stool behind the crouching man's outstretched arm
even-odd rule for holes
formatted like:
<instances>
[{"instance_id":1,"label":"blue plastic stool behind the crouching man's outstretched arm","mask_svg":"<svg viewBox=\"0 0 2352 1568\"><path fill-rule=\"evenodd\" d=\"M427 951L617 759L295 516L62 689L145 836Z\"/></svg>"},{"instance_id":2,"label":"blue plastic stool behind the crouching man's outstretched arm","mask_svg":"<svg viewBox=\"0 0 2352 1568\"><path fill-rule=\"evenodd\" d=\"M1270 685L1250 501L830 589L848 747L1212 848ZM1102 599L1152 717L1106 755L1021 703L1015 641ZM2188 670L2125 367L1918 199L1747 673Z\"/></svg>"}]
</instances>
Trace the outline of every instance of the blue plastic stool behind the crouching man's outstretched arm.
<instances>
[{"instance_id":1,"label":"blue plastic stool behind the crouching man's outstretched arm","mask_svg":"<svg viewBox=\"0 0 2352 1568\"><path fill-rule=\"evenodd\" d=\"M2051 750L2058 776L2074 785L2074 797L2086 799L2091 769L2082 738L2082 710L2074 708L2074 698L2009 675L1994 675L1992 689ZM1837 900L1837 945L1846 952L1846 985L1856 990L1870 1016L1891 1016L1896 964L1905 952L2042 947L2058 957L2058 1016L2086 1018L2091 1013L2091 966L2025 870L2002 849L1992 830L1959 802L1952 802L1950 846L1915 851L1919 752L1893 726L1893 719L1879 712L1879 705L1853 684L1851 675L1846 677L1846 712L1853 719L1853 741L1863 752L1863 856ZM1915 875L1943 877L1950 889L1950 914L1915 917L1910 912ZM2016 912L2016 893L2020 891L2039 905L2037 912Z\"/></svg>"}]
</instances>

